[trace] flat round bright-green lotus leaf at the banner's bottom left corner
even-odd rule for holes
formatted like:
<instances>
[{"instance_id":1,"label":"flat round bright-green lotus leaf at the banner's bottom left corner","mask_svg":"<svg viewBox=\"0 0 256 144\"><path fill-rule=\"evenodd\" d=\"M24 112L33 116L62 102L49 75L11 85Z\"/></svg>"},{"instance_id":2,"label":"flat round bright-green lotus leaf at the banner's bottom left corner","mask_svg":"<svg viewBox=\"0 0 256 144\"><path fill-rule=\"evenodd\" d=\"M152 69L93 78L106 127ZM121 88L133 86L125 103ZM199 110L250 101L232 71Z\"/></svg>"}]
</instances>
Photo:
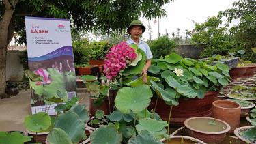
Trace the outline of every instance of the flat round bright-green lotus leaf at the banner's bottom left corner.
<instances>
[{"instance_id":1,"label":"flat round bright-green lotus leaf at the banner's bottom left corner","mask_svg":"<svg viewBox=\"0 0 256 144\"><path fill-rule=\"evenodd\" d=\"M44 112L25 117L25 126L31 132L46 132L51 126L51 117Z\"/></svg>"}]
</instances>

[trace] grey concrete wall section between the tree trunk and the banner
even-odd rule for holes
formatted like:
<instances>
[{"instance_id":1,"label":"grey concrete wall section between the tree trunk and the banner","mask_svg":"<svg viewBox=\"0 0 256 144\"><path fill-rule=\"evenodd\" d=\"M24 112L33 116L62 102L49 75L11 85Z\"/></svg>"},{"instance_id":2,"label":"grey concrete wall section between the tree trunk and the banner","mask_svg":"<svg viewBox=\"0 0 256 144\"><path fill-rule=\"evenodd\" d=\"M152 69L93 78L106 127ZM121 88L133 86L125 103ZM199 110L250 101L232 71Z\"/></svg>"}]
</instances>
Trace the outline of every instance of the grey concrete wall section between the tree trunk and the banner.
<instances>
[{"instance_id":1,"label":"grey concrete wall section between the tree trunk and the banner","mask_svg":"<svg viewBox=\"0 0 256 144\"><path fill-rule=\"evenodd\" d=\"M6 81L21 81L23 78L23 65L20 56L25 51L7 51L6 56Z\"/></svg>"}]
</instances>

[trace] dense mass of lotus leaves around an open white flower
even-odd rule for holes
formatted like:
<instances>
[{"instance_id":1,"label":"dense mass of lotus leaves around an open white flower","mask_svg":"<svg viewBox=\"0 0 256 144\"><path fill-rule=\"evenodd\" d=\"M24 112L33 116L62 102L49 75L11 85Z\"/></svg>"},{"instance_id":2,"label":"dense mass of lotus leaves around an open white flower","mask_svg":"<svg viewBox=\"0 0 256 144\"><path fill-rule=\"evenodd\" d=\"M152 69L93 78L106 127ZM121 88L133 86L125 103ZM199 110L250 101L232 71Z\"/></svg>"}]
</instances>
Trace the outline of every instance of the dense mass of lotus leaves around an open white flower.
<instances>
[{"instance_id":1,"label":"dense mass of lotus leaves around an open white flower","mask_svg":"<svg viewBox=\"0 0 256 144\"><path fill-rule=\"evenodd\" d=\"M205 61L183 59L171 54L161 59L152 59L149 76L159 79L150 81L156 96L166 104L177 105L178 99L204 98L206 91L218 91L229 83L229 67L223 63L210 66Z\"/></svg>"}]
</instances>

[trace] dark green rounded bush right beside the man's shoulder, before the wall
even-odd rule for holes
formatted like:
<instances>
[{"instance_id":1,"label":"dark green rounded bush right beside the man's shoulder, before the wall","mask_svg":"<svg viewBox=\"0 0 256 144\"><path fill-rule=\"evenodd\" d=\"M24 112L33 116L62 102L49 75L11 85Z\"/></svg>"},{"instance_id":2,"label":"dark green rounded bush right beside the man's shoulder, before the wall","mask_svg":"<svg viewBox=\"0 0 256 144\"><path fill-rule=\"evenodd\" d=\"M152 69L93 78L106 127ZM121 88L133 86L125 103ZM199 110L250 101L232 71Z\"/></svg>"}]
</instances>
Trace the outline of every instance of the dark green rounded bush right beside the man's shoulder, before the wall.
<instances>
[{"instance_id":1,"label":"dark green rounded bush right beside the man's shoulder, before the wall","mask_svg":"<svg viewBox=\"0 0 256 144\"><path fill-rule=\"evenodd\" d=\"M171 40L168 36L162 36L156 40L152 40L149 43L154 58L160 58L161 56L168 55L174 52L175 44L174 40Z\"/></svg>"}]
</instances>

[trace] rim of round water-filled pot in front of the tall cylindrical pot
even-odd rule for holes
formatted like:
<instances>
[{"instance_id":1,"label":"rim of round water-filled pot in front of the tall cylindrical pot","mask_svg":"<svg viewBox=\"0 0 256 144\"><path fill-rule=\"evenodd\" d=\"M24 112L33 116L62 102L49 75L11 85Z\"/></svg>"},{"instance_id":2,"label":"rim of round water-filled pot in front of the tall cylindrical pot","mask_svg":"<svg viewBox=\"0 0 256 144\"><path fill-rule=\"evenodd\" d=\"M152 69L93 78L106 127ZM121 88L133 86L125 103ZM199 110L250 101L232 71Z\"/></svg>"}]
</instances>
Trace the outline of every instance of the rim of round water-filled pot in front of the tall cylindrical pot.
<instances>
[{"instance_id":1,"label":"rim of round water-filled pot in front of the tall cylindrical pot","mask_svg":"<svg viewBox=\"0 0 256 144\"><path fill-rule=\"evenodd\" d=\"M219 131L219 132L205 132L205 131L201 131L201 130L196 130L194 128L191 128L189 125L188 125L188 121L192 120L192 119L215 119L215 118L212 118L212 117L190 117L188 119L186 119L184 121L184 124L186 126L186 128L190 129L190 130L193 130L195 132L200 132L200 133L203 133L203 134L224 134L226 132L228 132L231 127L229 126L229 124L227 124L227 122L225 121L222 121L221 119L215 119L216 121L220 121L221 123L225 124L227 126L227 128L225 130L222 130L222 131Z\"/></svg>"}]
</instances>

